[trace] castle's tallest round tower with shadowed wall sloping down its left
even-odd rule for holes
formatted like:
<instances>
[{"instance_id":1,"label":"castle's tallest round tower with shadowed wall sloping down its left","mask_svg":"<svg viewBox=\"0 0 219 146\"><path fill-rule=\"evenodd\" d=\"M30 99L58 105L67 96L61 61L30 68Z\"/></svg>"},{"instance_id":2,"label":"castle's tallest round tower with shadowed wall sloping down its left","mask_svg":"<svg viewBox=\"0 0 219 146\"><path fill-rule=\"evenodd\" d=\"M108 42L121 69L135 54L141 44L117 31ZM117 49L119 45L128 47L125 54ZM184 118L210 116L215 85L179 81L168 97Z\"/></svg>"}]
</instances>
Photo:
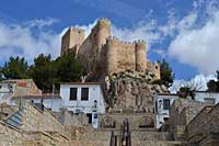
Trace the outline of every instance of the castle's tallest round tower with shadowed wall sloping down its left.
<instances>
[{"instance_id":1,"label":"castle's tallest round tower with shadowed wall sloping down its left","mask_svg":"<svg viewBox=\"0 0 219 146\"><path fill-rule=\"evenodd\" d=\"M106 38L111 35L111 23L106 20L101 20L92 29L91 34L82 43L78 57L87 72L95 72L96 70L104 70L101 56L103 45Z\"/></svg>"}]
</instances>

